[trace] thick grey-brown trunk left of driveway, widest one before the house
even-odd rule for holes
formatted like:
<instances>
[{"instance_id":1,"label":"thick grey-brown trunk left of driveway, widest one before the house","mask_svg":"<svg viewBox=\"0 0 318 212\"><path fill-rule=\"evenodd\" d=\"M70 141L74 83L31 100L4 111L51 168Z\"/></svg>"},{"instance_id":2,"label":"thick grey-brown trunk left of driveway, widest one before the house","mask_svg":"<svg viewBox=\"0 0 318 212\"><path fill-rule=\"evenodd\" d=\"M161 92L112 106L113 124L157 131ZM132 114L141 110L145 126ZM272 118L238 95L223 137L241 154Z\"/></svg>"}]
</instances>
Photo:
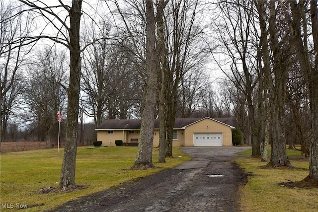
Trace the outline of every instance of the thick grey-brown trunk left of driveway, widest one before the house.
<instances>
[{"instance_id":1,"label":"thick grey-brown trunk left of driveway, widest one before the house","mask_svg":"<svg viewBox=\"0 0 318 212\"><path fill-rule=\"evenodd\" d=\"M156 34L155 34L155 13L152 0L146 0L146 71L147 85L145 105L141 117L141 129L137 159L131 169L154 168L152 152L154 140L154 115L156 110L156 81L157 81L157 57L156 57Z\"/></svg>"}]
</instances>

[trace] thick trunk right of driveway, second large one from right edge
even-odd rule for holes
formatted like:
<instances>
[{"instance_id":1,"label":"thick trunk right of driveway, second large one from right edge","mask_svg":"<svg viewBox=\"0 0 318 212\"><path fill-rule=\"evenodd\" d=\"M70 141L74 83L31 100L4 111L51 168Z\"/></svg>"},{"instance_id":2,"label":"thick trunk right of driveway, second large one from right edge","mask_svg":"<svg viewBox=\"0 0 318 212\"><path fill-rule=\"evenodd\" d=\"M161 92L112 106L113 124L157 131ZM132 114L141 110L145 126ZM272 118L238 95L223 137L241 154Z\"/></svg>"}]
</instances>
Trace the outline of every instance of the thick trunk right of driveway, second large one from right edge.
<instances>
[{"instance_id":1,"label":"thick trunk right of driveway, second large one from right edge","mask_svg":"<svg viewBox=\"0 0 318 212\"><path fill-rule=\"evenodd\" d=\"M271 105L271 127L272 127L272 153L268 163L269 166L291 166L286 151L285 137L285 103L286 103L286 85L287 70L290 61L290 47L288 42L278 42L276 31L276 3L269 3L269 37L273 52L273 73L275 75L275 84L272 86L270 94ZM282 41L281 41L282 42ZM284 45L285 44L285 45Z\"/></svg>"}]
</instances>

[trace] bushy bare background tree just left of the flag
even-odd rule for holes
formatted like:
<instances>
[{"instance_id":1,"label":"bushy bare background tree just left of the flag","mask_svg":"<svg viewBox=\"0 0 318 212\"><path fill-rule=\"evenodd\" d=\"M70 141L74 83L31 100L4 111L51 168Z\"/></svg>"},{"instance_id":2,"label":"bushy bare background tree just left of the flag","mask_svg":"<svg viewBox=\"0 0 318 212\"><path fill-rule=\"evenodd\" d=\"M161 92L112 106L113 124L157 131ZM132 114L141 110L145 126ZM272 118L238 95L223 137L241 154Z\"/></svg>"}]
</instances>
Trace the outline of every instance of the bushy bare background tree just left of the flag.
<instances>
[{"instance_id":1,"label":"bushy bare background tree just left of the flag","mask_svg":"<svg viewBox=\"0 0 318 212\"><path fill-rule=\"evenodd\" d=\"M28 86L25 92L25 104L29 112L25 118L37 123L45 130L46 147L51 141L57 141L56 113L66 102L66 92L61 85L67 81L66 55L52 48L45 48L37 59L28 66Z\"/></svg>"}]
</instances>

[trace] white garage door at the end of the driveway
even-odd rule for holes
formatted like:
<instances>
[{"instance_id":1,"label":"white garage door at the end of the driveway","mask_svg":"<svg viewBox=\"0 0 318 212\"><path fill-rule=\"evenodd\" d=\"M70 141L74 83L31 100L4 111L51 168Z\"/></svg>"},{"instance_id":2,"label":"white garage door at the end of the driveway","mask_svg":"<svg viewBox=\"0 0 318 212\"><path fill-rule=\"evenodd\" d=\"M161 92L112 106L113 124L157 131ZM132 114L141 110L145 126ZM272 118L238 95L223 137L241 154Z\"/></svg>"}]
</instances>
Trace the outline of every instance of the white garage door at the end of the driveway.
<instances>
[{"instance_id":1,"label":"white garage door at the end of the driveway","mask_svg":"<svg viewBox=\"0 0 318 212\"><path fill-rule=\"evenodd\" d=\"M222 146L222 133L195 133L194 146Z\"/></svg>"}]
</instances>

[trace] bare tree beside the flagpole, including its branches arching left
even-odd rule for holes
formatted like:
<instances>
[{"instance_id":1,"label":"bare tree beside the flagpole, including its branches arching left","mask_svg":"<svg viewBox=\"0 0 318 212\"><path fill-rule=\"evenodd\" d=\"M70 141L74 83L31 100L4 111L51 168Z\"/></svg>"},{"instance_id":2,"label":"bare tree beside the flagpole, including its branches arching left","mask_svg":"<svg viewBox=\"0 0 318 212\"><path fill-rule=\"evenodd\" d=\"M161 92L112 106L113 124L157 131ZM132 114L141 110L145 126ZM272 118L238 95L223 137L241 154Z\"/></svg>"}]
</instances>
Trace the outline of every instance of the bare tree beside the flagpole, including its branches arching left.
<instances>
[{"instance_id":1,"label":"bare tree beside the flagpole, including its branches arching left","mask_svg":"<svg viewBox=\"0 0 318 212\"><path fill-rule=\"evenodd\" d=\"M64 4L59 0L59 5L47 5L43 1L19 0L25 7L24 11L34 12L47 23L39 35L29 36L27 40L36 42L39 39L49 39L61 44L70 51L70 81L67 88L68 108L66 143L59 188L76 188L75 168L78 138L79 117L79 90L81 75L81 58L79 45L80 18L82 15L82 0L73 0L71 5ZM62 17L62 11L65 17ZM45 34L48 26L56 30L55 35ZM19 42L19 40L15 41Z\"/></svg>"}]
</instances>

